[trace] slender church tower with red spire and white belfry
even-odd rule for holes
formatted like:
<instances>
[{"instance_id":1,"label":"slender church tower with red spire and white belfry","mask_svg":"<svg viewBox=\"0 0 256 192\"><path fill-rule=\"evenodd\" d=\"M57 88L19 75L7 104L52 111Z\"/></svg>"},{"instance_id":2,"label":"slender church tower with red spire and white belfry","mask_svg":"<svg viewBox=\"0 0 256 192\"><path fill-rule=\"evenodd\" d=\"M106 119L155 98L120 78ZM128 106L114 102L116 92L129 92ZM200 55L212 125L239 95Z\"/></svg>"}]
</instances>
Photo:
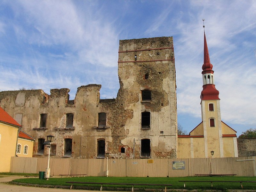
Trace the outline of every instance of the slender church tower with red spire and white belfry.
<instances>
[{"instance_id":1,"label":"slender church tower with red spire and white belfry","mask_svg":"<svg viewBox=\"0 0 256 192\"><path fill-rule=\"evenodd\" d=\"M219 91L214 84L214 71L210 62L205 32L204 32L204 64L202 66L203 91L201 92L201 112L204 126L204 153L205 157L223 156L223 140L220 117ZM212 150L211 150L212 149Z\"/></svg>"}]
</instances>

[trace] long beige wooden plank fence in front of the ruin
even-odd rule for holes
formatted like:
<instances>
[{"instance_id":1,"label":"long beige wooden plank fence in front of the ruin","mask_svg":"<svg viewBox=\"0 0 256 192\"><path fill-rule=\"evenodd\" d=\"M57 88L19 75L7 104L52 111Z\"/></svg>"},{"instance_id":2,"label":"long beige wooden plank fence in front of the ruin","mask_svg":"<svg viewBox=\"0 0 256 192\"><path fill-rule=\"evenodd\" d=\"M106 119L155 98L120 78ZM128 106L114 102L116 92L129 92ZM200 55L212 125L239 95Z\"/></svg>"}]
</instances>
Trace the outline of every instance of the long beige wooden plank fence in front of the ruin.
<instances>
[{"instance_id":1,"label":"long beige wooden plank fence in front of the ruin","mask_svg":"<svg viewBox=\"0 0 256 192\"><path fill-rule=\"evenodd\" d=\"M173 169L181 161L185 169ZM10 172L45 171L47 158L12 157ZM107 159L50 159L51 175L87 174L106 176ZM192 159L108 159L109 177L185 177L195 174L236 174L256 176L256 157Z\"/></svg>"}]
</instances>

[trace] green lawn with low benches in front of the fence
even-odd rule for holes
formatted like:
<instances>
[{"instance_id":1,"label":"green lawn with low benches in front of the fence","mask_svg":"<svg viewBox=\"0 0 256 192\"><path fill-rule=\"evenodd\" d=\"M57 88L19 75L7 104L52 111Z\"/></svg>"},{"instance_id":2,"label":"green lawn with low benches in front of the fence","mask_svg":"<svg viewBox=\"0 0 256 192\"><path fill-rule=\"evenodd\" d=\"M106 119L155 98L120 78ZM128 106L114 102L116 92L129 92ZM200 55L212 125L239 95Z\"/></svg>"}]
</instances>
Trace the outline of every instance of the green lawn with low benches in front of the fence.
<instances>
[{"instance_id":1,"label":"green lawn with low benches in front of the fence","mask_svg":"<svg viewBox=\"0 0 256 192\"><path fill-rule=\"evenodd\" d=\"M20 183L30 184L42 184L42 185L64 185L71 186L66 181L76 182L103 182L103 183L145 183L145 184L172 184L167 188L171 189L183 189L183 182L179 180L195 180L195 181L256 181L256 177L72 177L72 178L50 178L47 180L39 180L39 178L24 178L13 180ZM100 187L95 184L73 184L73 186L88 186L88 187ZM130 185L103 185L109 188L132 188ZM244 189L255 190L256 183L243 183ZM134 186L134 188L164 188L164 186ZM209 182L188 182L186 183L186 189L242 189L240 183L211 183Z\"/></svg>"}]
</instances>

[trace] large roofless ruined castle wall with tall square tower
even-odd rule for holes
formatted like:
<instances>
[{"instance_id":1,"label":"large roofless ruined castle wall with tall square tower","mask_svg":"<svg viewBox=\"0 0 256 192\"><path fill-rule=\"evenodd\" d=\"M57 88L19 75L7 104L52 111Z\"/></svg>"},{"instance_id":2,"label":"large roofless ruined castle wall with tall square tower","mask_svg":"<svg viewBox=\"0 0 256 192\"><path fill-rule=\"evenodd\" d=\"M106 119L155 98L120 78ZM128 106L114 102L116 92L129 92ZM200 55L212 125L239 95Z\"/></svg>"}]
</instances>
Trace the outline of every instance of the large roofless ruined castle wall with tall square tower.
<instances>
[{"instance_id":1,"label":"large roofless ruined castle wall with tall square tower","mask_svg":"<svg viewBox=\"0 0 256 192\"><path fill-rule=\"evenodd\" d=\"M110 158L143 158L142 140L149 143L150 157L176 157L177 108L172 37L120 40L118 57L120 88L116 99L100 99L101 85L77 88L74 100L69 89L0 92L0 106L11 116L22 114L23 130L36 139L55 136L56 154L64 156L65 139L72 139L70 158L99 158L98 140L105 140ZM143 101L142 90L151 92ZM150 128L142 129L142 113L150 113ZM107 114L107 124L98 126L98 114ZM73 113L73 127L66 127L66 115ZM47 114L40 127L40 114ZM18 116L17 116L18 118ZM147 143L146 142L146 143ZM146 156L149 157L149 156ZM66 158L66 157L65 157Z\"/></svg>"}]
</instances>

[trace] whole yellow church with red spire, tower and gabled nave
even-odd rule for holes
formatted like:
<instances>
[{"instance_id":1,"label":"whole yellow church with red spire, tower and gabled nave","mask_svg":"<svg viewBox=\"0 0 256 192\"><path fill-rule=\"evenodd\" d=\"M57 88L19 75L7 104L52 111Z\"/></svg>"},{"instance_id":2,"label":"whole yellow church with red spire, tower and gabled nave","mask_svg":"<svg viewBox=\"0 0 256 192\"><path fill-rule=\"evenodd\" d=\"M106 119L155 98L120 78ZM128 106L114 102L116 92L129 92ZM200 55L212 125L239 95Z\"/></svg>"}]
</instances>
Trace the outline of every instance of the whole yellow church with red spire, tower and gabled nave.
<instances>
[{"instance_id":1,"label":"whole yellow church with red spire, tower and gabled nave","mask_svg":"<svg viewBox=\"0 0 256 192\"><path fill-rule=\"evenodd\" d=\"M201 92L202 122L189 135L178 135L177 158L237 157L236 131L221 121L219 91L204 33L204 64Z\"/></svg>"}]
</instances>

